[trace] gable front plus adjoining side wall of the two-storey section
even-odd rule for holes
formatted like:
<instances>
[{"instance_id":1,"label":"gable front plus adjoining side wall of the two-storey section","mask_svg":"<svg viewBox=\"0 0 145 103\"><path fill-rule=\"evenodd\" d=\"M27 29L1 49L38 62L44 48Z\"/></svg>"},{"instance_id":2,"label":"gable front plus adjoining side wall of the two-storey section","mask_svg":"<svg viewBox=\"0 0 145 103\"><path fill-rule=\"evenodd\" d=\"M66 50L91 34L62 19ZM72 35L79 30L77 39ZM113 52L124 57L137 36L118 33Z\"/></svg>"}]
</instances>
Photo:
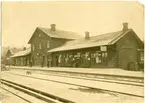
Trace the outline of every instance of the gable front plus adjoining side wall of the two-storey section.
<instances>
[{"instance_id":1,"label":"gable front plus adjoining side wall of the two-storey section","mask_svg":"<svg viewBox=\"0 0 145 103\"><path fill-rule=\"evenodd\" d=\"M39 36L41 34L41 36ZM49 48L47 43L49 41ZM48 66L49 56L47 51L63 45L67 39L51 38L39 29L34 32L31 41L31 52L32 52L32 64L34 66ZM42 44L41 49L39 48L40 43ZM35 50L33 46L35 45Z\"/></svg>"}]
</instances>

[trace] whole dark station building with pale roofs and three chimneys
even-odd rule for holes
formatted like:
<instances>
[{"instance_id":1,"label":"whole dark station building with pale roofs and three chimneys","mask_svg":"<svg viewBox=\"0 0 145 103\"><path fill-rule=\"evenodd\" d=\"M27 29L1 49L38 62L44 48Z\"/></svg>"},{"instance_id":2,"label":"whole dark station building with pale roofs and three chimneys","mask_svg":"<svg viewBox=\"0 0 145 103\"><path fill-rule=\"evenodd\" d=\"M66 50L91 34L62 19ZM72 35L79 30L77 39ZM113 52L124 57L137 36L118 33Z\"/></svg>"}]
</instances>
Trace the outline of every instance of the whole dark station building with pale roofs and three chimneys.
<instances>
[{"instance_id":1,"label":"whole dark station building with pale roofs and three chimneys","mask_svg":"<svg viewBox=\"0 0 145 103\"><path fill-rule=\"evenodd\" d=\"M128 28L128 23L123 23L119 31L96 36L90 36L87 31L84 35L59 30L55 24L50 28L37 27L28 42L31 45L29 52L14 55L13 64L130 70L144 67L144 43L133 29ZM17 60L27 60L27 63Z\"/></svg>"}]
</instances>

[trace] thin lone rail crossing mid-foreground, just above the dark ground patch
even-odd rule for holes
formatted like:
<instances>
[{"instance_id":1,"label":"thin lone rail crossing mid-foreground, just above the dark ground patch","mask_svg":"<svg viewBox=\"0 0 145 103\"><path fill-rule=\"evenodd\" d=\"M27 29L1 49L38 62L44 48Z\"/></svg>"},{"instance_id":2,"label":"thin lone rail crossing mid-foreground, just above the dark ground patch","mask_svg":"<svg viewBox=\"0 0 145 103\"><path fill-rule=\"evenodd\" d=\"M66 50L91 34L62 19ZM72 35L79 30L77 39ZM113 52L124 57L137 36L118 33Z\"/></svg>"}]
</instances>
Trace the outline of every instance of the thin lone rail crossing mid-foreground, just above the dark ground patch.
<instances>
[{"instance_id":1,"label":"thin lone rail crossing mid-foreground, just above the dark ground patch","mask_svg":"<svg viewBox=\"0 0 145 103\"><path fill-rule=\"evenodd\" d=\"M62 83L62 84L67 84L67 85L73 85L73 86L80 86L80 87L85 87L85 88L90 88L90 89L96 89L96 90L101 90L101 91L105 91L105 92L112 92L112 93L118 93L118 94L123 94L123 95L128 95L128 96L135 96L135 97L144 98L144 96L142 96L142 95L137 95L137 94L132 94L132 93L125 93L125 92L113 91L113 90L108 90L108 89L101 89L101 88L96 88L96 87L91 87L91 86L84 86L84 85L70 83L70 82L63 82L63 81L52 80L52 79L44 79L44 78L21 75L21 74L16 74L16 73L11 73L11 74L18 75L18 76L23 76L23 77L28 77L28 78L33 78L33 79L39 79L39 80L51 81L51 82Z\"/></svg>"}]
</instances>

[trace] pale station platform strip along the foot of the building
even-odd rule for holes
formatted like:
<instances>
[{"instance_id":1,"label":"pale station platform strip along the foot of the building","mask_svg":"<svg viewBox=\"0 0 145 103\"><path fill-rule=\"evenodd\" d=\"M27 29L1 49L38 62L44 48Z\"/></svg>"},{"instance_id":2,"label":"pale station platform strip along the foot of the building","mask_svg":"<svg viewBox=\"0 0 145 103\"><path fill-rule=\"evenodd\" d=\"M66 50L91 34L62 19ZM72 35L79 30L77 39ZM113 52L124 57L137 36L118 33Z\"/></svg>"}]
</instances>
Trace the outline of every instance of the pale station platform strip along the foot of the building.
<instances>
[{"instance_id":1,"label":"pale station platform strip along the foot of the building","mask_svg":"<svg viewBox=\"0 0 145 103\"><path fill-rule=\"evenodd\" d=\"M26 66L10 66L9 69L24 69L24 70L40 70L40 71L61 71L73 73L88 73L101 74L124 77L139 77L144 78L143 71L128 71L121 68L68 68L68 67L26 67Z\"/></svg>"}]
</instances>

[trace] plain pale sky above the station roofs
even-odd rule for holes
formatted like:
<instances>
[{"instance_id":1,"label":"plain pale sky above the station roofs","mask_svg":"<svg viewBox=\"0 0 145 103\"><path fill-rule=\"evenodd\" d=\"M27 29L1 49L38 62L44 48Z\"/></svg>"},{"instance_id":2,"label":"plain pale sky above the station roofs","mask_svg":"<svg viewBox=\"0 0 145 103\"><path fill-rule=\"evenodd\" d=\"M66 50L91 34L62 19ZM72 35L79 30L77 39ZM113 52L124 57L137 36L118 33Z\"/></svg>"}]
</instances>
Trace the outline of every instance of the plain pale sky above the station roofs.
<instances>
[{"instance_id":1,"label":"plain pale sky above the station roofs","mask_svg":"<svg viewBox=\"0 0 145 103\"><path fill-rule=\"evenodd\" d=\"M91 36L122 30L128 22L144 38L144 8L138 2L3 2L2 45L29 46L36 27L74 31Z\"/></svg>"}]
</instances>

